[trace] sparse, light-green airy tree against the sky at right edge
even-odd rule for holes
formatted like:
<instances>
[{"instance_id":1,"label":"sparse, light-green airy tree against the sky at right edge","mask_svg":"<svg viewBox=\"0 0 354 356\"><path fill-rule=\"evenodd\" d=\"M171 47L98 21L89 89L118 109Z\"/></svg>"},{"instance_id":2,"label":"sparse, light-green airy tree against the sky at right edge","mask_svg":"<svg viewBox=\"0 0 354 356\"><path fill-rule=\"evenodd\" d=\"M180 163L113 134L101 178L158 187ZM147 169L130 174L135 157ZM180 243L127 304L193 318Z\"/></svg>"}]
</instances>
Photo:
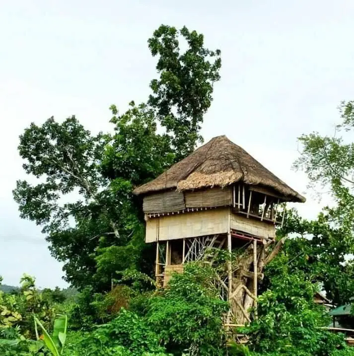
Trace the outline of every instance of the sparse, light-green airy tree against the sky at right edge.
<instances>
[{"instance_id":1,"label":"sparse, light-green airy tree against the sky at right edge","mask_svg":"<svg viewBox=\"0 0 354 356\"><path fill-rule=\"evenodd\" d=\"M354 244L354 102L343 102L339 109L343 122L333 136L312 132L299 138L301 155L294 167L307 174L313 188L329 189L336 205L325 211Z\"/></svg>"}]
</instances>

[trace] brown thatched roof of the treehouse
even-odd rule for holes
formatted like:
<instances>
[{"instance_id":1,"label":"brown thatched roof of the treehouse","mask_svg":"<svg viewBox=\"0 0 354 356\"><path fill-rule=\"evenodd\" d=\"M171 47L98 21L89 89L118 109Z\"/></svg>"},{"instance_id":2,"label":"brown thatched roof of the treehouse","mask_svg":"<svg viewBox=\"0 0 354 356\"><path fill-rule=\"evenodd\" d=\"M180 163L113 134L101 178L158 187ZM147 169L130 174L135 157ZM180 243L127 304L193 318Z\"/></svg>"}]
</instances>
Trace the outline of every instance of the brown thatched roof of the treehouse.
<instances>
[{"instance_id":1,"label":"brown thatched roof of the treehouse","mask_svg":"<svg viewBox=\"0 0 354 356\"><path fill-rule=\"evenodd\" d=\"M290 201L306 200L226 136L212 138L154 180L136 188L134 194L224 187L238 181L271 188Z\"/></svg>"}]
</instances>

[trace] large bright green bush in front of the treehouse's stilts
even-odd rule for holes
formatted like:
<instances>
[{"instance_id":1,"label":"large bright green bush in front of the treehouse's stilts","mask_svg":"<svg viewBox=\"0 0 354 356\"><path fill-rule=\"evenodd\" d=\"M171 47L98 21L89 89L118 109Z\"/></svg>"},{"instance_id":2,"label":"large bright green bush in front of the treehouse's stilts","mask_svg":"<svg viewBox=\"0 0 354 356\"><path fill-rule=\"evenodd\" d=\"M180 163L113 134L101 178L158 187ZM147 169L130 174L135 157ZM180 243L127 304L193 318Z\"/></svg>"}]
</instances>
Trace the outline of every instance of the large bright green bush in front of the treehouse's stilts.
<instances>
[{"instance_id":1,"label":"large bright green bush in front of the treehouse's stilts","mask_svg":"<svg viewBox=\"0 0 354 356\"><path fill-rule=\"evenodd\" d=\"M228 304L219 298L213 278L212 268L187 265L166 290L147 300L147 324L169 352L189 349L191 355L223 355L222 314Z\"/></svg>"}]
</instances>

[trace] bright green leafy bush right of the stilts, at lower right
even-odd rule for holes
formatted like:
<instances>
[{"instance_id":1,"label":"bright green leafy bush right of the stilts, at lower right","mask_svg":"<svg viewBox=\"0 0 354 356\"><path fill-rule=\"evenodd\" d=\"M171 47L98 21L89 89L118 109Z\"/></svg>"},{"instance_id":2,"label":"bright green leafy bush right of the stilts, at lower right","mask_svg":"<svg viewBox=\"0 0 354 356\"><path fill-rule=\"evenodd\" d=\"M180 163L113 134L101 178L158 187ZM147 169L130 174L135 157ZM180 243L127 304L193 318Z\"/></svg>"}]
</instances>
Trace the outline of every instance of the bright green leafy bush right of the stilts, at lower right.
<instances>
[{"instance_id":1,"label":"bright green leafy bush right of the stilts, at lower right","mask_svg":"<svg viewBox=\"0 0 354 356\"><path fill-rule=\"evenodd\" d=\"M269 290L258 301L258 319L246 328L256 352L291 356L330 356L345 349L344 337L320 327L330 322L322 306L313 302L317 286L279 255L267 267Z\"/></svg>"}]
</instances>

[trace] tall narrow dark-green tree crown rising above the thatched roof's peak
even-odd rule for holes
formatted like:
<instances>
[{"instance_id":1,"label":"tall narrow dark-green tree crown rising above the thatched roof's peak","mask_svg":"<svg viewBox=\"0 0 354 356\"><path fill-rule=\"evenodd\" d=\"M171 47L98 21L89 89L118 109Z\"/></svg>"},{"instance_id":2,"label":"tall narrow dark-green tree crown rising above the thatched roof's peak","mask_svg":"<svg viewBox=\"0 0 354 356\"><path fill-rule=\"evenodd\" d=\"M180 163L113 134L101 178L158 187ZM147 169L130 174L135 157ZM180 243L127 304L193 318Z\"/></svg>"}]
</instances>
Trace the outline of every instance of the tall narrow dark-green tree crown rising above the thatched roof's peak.
<instances>
[{"instance_id":1,"label":"tall narrow dark-green tree crown rising above the thatched roof's peak","mask_svg":"<svg viewBox=\"0 0 354 356\"><path fill-rule=\"evenodd\" d=\"M184 53L181 40L187 44ZM185 26L177 30L161 25L148 45L152 56L159 56L156 69L160 74L150 83L149 104L161 125L173 133L172 147L179 161L202 141L200 125L212 102L212 85L220 79L220 50L204 48L204 36Z\"/></svg>"}]
</instances>

